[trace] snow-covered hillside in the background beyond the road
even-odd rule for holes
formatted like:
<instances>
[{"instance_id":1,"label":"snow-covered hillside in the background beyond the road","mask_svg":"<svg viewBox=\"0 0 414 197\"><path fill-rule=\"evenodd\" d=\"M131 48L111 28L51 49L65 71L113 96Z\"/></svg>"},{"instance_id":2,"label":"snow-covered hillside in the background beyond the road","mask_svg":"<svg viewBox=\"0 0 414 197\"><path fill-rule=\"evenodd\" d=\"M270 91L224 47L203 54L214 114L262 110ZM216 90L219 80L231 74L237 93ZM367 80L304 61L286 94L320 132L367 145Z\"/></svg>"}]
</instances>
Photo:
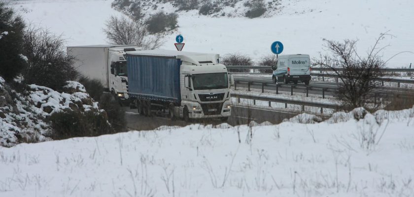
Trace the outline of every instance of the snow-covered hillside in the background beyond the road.
<instances>
[{"instance_id":1,"label":"snow-covered hillside in the background beyond the road","mask_svg":"<svg viewBox=\"0 0 414 197\"><path fill-rule=\"evenodd\" d=\"M68 45L105 43L104 21L120 14L110 7L111 0L21 0L13 1L24 17L63 33ZM281 10L268 18L202 16L197 10L178 12L179 28L166 38L163 48L175 50L176 34L186 43L184 50L251 55L256 60L270 54L270 45L279 40L284 54L317 56L323 50L322 38L359 39L365 52L379 33L395 37L382 40L384 60L403 51L414 51L414 1L412 0L281 0ZM167 9L167 8L166 8ZM168 10L167 10L168 11ZM389 67L414 63L414 54L404 53L388 62Z\"/></svg>"}]
</instances>

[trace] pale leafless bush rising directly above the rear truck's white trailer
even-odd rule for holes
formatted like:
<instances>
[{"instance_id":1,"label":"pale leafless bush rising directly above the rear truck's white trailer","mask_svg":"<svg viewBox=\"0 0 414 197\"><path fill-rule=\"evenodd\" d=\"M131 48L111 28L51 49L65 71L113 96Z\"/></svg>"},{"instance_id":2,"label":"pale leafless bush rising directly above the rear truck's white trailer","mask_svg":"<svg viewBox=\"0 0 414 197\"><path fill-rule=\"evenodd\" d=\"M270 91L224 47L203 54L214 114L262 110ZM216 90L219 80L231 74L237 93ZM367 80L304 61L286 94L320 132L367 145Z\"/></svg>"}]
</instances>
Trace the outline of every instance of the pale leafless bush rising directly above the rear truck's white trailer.
<instances>
[{"instance_id":1,"label":"pale leafless bush rising directly above the rear truck's white trailer","mask_svg":"<svg viewBox=\"0 0 414 197\"><path fill-rule=\"evenodd\" d=\"M146 27L127 17L111 16L104 33L112 44L134 44L143 49L157 49L164 43L162 34L149 35Z\"/></svg>"}]
</instances>

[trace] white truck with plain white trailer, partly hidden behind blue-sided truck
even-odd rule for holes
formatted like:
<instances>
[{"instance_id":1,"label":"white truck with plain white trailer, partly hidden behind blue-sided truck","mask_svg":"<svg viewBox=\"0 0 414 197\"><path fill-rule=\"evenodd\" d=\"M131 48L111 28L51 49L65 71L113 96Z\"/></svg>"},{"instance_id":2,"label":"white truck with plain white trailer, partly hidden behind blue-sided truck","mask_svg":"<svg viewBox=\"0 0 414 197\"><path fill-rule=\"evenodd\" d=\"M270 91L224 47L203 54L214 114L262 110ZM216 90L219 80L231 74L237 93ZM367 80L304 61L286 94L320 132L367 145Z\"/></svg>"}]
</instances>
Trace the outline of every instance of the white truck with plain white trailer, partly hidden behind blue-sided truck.
<instances>
[{"instance_id":1,"label":"white truck with plain white trailer, partly hidden behind blue-sided truck","mask_svg":"<svg viewBox=\"0 0 414 197\"><path fill-rule=\"evenodd\" d=\"M128 99L126 52L141 50L135 45L69 46L77 70L91 79L99 79L105 90L120 100Z\"/></svg>"}]
</instances>

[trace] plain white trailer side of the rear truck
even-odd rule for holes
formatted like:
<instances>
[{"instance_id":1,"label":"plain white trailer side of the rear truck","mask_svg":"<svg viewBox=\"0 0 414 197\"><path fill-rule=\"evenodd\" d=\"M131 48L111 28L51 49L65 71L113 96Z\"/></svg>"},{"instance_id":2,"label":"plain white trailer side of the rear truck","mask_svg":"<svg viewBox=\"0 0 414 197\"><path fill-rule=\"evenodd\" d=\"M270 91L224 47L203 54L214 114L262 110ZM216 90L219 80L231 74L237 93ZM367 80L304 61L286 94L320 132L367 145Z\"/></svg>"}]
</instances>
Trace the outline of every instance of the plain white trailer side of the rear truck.
<instances>
[{"instance_id":1,"label":"plain white trailer side of the rear truck","mask_svg":"<svg viewBox=\"0 0 414 197\"><path fill-rule=\"evenodd\" d=\"M68 54L75 58L76 69L90 79L101 80L109 88L108 47L68 47Z\"/></svg>"}]
</instances>

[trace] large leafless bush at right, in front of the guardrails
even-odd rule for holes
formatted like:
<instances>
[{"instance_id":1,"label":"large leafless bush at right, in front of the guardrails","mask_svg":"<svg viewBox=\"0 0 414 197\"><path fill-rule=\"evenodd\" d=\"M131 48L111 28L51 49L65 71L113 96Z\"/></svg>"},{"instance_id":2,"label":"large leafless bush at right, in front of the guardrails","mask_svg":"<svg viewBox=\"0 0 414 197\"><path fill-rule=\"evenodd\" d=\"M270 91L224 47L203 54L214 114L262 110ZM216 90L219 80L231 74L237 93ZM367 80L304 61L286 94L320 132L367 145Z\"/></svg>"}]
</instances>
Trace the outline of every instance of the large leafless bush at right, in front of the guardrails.
<instances>
[{"instance_id":1,"label":"large leafless bush at right, in front of the guardrails","mask_svg":"<svg viewBox=\"0 0 414 197\"><path fill-rule=\"evenodd\" d=\"M314 65L328 67L339 76L338 98L343 102L345 110L352 110L357 107L369 107L368 103L374 98L374 89L380 85L376 78L381 76L380 68L385 62L379 55L385 48L379 48L380 41L390 36L381 33L374 46L368 50L367 56L362 57L356 52L357 40L345 39L343 42L326 40L326 49L331 54L320 55L314 59ZM377 108L374 106L374 108Z\"/></svg>"}]
</instances>

